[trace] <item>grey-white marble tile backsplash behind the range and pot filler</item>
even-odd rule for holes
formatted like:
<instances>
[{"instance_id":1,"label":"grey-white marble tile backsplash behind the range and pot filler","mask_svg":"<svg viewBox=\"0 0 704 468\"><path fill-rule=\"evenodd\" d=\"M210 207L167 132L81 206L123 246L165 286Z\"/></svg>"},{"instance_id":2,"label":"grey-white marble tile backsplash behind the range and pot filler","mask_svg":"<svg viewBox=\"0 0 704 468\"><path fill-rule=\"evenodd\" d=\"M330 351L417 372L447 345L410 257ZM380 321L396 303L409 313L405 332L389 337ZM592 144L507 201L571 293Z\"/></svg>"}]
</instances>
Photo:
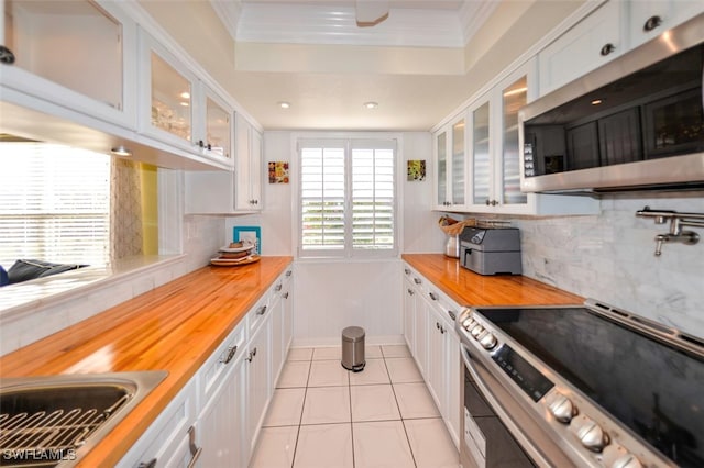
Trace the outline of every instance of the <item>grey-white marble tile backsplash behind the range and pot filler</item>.
<instances>
[{"instance_id":1,"label":"grey-white marble tile backsplash behind the range and pot filler","mask_svg":"<svg viewBox=\"0 0 704 468\"><path fill-rule=\"evenodd\" d=\"M609 196L600 215L515 219L524 275L704 337L704 241L656 257L669 223L636 216L646 205L704 213L704 193Z\"/></svg>"}]
</instances>

